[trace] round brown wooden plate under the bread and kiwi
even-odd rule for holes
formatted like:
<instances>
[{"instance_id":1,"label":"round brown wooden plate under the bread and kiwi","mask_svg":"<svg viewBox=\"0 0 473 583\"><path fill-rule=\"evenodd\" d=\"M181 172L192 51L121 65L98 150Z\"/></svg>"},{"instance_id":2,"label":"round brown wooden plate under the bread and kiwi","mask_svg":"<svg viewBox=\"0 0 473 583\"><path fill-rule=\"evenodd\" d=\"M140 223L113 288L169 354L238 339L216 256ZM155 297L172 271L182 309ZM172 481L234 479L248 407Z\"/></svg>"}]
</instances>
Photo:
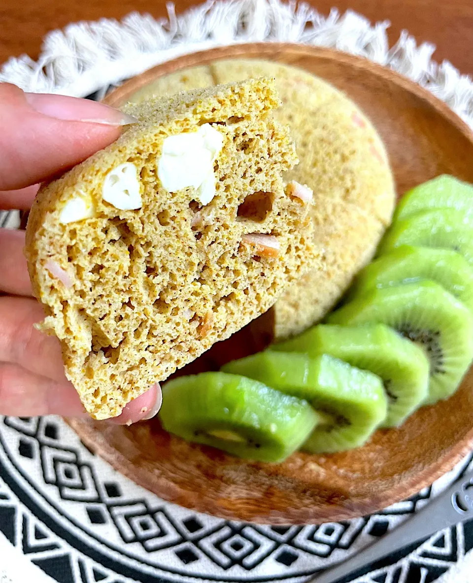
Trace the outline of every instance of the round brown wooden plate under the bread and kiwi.
<instances>
[{"instance_id":1,"label":"round brown wooden plate under the bread and kiwi","mask_svg":"<svg viewBox=\"0 0 473 583\"><path fill-rule=\"evenodd\" d=\"M218 48L159 65L106 101L119 106L161 75L232 57L299 66L346 92L384 139L398 192L442 173L473 182L473 134L444 103L397 73L329 50L291 44ZM181 373L215 369L227 354L255 352L269 341L268 318L215 345ZM338 521L411 496L467 454L473 445L473 373L448 401L420 409L399 430L377 431L363 448L325 456L297 453L279 465L187 444L162 431L158 420L130 427L92 419L69 423L114 468L165 500L267 524Z\"/></svg>"}]
</instances>

